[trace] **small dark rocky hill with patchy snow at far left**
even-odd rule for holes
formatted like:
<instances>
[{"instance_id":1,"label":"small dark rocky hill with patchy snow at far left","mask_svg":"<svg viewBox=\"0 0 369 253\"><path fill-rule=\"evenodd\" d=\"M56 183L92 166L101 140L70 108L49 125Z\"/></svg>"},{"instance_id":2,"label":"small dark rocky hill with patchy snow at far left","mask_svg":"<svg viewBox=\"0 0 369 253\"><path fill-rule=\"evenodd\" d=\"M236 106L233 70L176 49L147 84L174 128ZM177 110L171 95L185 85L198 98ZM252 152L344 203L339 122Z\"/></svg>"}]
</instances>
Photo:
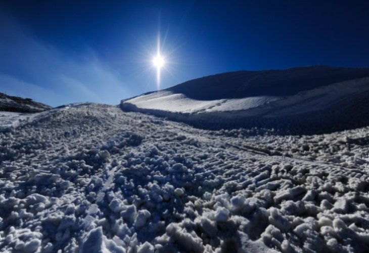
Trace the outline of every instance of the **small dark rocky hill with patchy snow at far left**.
<instances>
[{"instance_id":1,"label":"small dark rocky hill with patchy snow at far left","mask_svg":"<svg viewBox=\"0 0 369 253\"><path fill-rule=\"evenodd\" d=\"M41 112L49 109L51 106L32 101L29 98L24 99L0 93L0 111Z\"/></svg>"}]
</instances>

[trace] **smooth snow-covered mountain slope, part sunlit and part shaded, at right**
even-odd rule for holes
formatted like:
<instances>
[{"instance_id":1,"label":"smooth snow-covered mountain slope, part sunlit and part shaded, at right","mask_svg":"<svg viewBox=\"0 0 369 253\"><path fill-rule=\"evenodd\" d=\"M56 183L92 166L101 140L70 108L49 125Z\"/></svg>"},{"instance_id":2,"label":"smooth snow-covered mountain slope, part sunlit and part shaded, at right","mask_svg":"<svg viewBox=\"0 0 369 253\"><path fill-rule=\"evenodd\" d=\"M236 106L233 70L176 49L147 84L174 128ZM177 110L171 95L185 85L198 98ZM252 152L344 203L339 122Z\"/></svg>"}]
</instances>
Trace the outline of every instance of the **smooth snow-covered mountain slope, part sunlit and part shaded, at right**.
<instances>
[{"instance_id":1,"label":"smooth snow-covered mountain slope, part sunlit and part shaded, at right","mask_svg":"<svg viewBox=\"0 0 369 253\"><path fill-rule=\"evenodd\" d=\"M369 69L313 66L207 76L122 100L121 107L200 128L316 133L369 124L368 101Z\"/></svg>"}]
</instances>

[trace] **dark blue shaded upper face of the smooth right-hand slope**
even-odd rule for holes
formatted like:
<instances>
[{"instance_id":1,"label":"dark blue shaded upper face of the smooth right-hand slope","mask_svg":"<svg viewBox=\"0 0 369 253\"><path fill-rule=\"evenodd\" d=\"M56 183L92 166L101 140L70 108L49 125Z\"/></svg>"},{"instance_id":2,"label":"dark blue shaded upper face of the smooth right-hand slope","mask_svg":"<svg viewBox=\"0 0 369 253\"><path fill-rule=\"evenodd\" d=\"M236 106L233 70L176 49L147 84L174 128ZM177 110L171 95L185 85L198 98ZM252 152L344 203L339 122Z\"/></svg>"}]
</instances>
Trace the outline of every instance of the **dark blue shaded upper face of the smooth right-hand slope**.
<instances>
[{"instance_id":1,"label":"dark blue shaded upper face of the smooth right-hand slope","mask_svg":"<svg viewBox=\"0 0 369 253\"><path fill-rule=\"evenodd\" d=\"M196 100L291 96L335 82L369 76L369 68L329 66L283 70L236 71L205 76L166 89Z\"/></svg>"}]
</instances>

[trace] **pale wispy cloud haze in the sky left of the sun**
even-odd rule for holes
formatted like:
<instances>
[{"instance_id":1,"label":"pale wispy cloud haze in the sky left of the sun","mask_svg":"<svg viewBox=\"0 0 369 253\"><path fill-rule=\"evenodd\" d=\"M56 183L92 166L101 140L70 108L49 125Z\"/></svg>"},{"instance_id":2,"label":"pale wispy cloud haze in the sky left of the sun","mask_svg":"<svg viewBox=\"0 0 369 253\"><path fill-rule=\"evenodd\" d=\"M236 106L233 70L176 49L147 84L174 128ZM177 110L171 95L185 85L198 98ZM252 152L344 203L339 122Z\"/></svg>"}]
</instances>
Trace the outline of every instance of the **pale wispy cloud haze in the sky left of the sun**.
<instances>
[{"instance_id":1,"label":"pale wispy cloud haze in the sky left of the sun","mask_svg":"<svg viewBox=\"0 0 369 253\"><path fill-rule=\"evenodd\" d=\"M133 95L90 48L79 54L63 52L9 16L0 18L0 92L52 106L85 101L118 104Z\"/></svg>"}]
</instances>

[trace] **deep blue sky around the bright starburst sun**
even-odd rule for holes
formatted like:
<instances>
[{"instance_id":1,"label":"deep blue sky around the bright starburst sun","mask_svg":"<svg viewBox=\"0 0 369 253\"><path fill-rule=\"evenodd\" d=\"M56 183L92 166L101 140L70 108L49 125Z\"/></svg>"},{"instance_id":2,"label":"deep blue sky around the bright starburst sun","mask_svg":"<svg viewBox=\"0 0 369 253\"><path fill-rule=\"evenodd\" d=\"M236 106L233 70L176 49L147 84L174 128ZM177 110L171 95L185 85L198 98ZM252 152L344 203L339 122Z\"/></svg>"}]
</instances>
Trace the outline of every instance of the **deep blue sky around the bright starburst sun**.
<instances>
[{"instance_id":1,"label":"deep blue sky around the bright starburst sun","mask_svg":"<svg viewBox=\"0 0 369 253\"><path fill-rule=\"evenodd\" d=\"M119 104L227 71L369 67L368 10L369 1L2 0L0 92Z\"/></svg>"}]
</instances>

